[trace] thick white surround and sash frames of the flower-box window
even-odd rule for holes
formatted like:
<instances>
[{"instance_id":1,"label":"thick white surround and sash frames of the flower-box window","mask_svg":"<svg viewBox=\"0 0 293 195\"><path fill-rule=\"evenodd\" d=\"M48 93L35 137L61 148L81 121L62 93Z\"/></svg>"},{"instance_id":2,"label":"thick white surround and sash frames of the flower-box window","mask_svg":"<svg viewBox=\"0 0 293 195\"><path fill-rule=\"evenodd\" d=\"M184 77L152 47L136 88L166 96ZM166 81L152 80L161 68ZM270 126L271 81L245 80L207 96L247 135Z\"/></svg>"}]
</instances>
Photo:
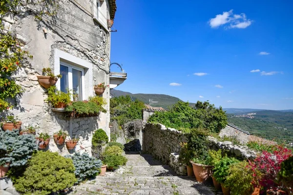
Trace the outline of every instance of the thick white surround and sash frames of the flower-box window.
<instances>
[{"instance_id":1,"label":"thick white surround and sash frames of the flower-box window","mask_svg":"<svg viewBox=\"0 0 293 195\"><path fill-rule=\"evenodd\" d=\"M88 97L93 96L93 64L85 61L84 59L77 58L71 54L55 49L54 53L54 74L60 74L60 65L74 68L82 71L82 99L86 100ZM70 73L71 72L71 73ZM69 76L71 74L71 76ZM86 86L86 87L85 87ZM60 79L56 83L58 90L60 87ZM68 68L68 87L72 89L72 70Z\"/></svg>"}]
</instances>

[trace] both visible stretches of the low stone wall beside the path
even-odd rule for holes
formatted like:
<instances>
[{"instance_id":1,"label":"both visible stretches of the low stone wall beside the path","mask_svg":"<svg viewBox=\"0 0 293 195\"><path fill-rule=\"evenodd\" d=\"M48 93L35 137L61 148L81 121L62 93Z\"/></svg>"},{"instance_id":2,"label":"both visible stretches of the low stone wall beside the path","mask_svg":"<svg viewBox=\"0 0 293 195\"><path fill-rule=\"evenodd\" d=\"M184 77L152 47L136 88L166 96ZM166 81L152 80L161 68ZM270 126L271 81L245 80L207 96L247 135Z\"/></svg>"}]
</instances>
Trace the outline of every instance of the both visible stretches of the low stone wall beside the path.
<instances>
[{"instance_id":1,"label":"both visible stretches of the low stone wall beside the path","mask_svg":"<svg viewBox=\"0 0 293 195\"><path fill-rule=\"evenodd\" d=\"M256 157L256 153L249 150L247 146L232 145L230 141L220 142L213 137L209 137L209 140L209 149L211 150L228 150L229 156L243 159L253 160ZM154 156L164 164L169 164L180 176L187 174L186 167L178 160L180 143L187 141L187 137L182 132L166 128L162 124L146 123L143 129L143 152Z\"/></svg>"}]
</instances>

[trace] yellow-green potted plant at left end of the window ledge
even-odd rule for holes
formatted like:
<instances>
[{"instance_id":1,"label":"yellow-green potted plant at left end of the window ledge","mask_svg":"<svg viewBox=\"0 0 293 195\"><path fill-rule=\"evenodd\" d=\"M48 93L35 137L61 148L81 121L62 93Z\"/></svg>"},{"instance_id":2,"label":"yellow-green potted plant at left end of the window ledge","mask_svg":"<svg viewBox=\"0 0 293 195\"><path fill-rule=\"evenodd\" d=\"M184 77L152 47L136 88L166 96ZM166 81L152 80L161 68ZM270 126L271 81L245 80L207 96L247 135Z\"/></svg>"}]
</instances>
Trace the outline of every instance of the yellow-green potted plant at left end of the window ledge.
<instances>
[{"instance_id":1,"label":"yellow-green potted plant at left end of the window ledge","mask_svg":"<svg viewBox=\"0 0 293 195\"><path fill-rule=\"evenodd\" d=\"M56 90L56 86L52 86L48 89L48 98L46 101L49 101L54 108L65 109L65 107L71 103L70 99L71 94L69 91L64 93L62 91Z\"/></svg>"}]
</instances>

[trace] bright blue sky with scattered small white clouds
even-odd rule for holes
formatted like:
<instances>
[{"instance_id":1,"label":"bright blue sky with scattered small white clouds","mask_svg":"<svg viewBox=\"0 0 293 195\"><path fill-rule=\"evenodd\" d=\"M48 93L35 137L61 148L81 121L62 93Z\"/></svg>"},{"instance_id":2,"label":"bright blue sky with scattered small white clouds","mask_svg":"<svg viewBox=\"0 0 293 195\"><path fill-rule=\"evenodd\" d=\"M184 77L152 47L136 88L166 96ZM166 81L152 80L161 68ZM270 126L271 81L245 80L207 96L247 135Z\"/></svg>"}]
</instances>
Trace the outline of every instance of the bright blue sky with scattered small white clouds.
<instances>
[{"instance_id":1,"label":"bright blue sky with scattered small white clouds","mask_svg":"<svg viewBox=\"0 0 293 195\"><path fill-rule=\"evenodd\" d=\"M293 109L292 8L289 0L117 0L111 62L127 80L116 89Z\"/></svg>"}]
</instances>

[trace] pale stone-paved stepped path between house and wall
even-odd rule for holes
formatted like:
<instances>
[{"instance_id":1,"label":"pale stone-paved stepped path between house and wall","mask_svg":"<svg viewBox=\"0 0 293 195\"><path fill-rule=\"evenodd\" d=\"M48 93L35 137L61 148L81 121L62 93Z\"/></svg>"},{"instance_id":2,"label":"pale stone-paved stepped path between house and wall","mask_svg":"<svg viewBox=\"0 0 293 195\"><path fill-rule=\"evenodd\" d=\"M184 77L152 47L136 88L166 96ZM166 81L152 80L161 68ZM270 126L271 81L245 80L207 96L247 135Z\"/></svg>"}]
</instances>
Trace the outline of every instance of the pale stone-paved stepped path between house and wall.
<instances>
[{"instance_id":1,"label":"pale stone-paved stepped path between house and wall","mask_svg":"<svg viewBox=\"0 0 293 195\"><path fill-rule=\"evenodd\" d=\"M177 176L149 155L126 157L126 166L74 187L70 195L214 195L194 177Z\"/></svg>"}]
</instances>

